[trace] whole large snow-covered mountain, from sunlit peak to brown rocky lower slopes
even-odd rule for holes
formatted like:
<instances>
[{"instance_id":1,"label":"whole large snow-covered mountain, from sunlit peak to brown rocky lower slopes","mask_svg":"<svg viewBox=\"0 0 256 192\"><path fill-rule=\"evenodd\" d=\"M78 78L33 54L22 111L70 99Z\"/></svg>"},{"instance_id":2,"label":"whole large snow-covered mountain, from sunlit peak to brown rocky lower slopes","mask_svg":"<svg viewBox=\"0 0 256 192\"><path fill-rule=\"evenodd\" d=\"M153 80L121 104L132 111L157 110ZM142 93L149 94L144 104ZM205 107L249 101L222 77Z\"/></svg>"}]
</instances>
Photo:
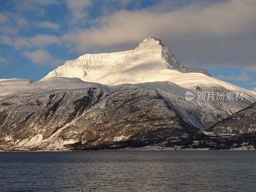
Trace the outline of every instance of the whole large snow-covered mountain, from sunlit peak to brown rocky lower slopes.
<instances>
[{"instance_id":1,"label":"whole large snow-covered mountain, from sunlit peak to brown rocky lower slopes","mask_svg":"<svg viewBox=\"0 0 256 192\"><path fill-rule=\"evenodd\" d=\"M188 91L244 97L187 101ZM204 137L202 130L255 101L255 91L185 68L160 39L149 37L131 51L66 61L38 82L0 79L0 150Z\"/></svg>"}]
</instances>

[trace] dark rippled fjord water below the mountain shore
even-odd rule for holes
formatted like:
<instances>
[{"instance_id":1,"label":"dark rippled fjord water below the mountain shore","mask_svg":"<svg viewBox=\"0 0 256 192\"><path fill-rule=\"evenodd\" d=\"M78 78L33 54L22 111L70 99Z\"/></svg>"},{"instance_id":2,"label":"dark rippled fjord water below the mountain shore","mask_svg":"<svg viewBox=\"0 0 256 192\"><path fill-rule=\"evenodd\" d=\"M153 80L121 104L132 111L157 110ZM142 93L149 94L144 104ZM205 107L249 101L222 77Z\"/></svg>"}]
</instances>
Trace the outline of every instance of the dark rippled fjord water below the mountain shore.
<instances>
[{"instance_id":1,"label":"dark rippled fjord water below the mountain shore","mask_svg":"<svg viewBox=\"0 0 256 192\"><path fill-rule=\"evenodd\" d=\"M0 152L0 191L254 191L255 151Z\"/></svg>"}]
</instances>

